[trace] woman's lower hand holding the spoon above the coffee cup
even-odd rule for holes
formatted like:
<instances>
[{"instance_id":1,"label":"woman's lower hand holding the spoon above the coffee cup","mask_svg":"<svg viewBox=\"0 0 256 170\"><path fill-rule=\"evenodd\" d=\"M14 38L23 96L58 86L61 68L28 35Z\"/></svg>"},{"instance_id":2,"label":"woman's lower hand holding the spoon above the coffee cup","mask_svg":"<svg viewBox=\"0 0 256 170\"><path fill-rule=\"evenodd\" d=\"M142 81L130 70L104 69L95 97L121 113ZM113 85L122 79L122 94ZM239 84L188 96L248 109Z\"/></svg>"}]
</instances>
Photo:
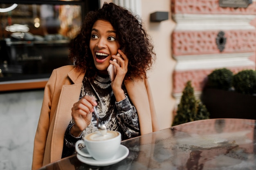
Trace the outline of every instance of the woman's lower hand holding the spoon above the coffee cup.
<instances>
[{"instance_id":1,"label":"woman's lower hand holding the spoon above the coffee cup","mask_svg":"<svg viewBox=\"0 0 256 170\"><path fill-rule=\"evenodd\" d=\"M89 126L92 119L93 106L97 106L94 97L84 96L78 102L74 103L72 107L72 118L74 125L70 129L70 133L78 137L82 131Z\"/></svg>"}]
</instances>

